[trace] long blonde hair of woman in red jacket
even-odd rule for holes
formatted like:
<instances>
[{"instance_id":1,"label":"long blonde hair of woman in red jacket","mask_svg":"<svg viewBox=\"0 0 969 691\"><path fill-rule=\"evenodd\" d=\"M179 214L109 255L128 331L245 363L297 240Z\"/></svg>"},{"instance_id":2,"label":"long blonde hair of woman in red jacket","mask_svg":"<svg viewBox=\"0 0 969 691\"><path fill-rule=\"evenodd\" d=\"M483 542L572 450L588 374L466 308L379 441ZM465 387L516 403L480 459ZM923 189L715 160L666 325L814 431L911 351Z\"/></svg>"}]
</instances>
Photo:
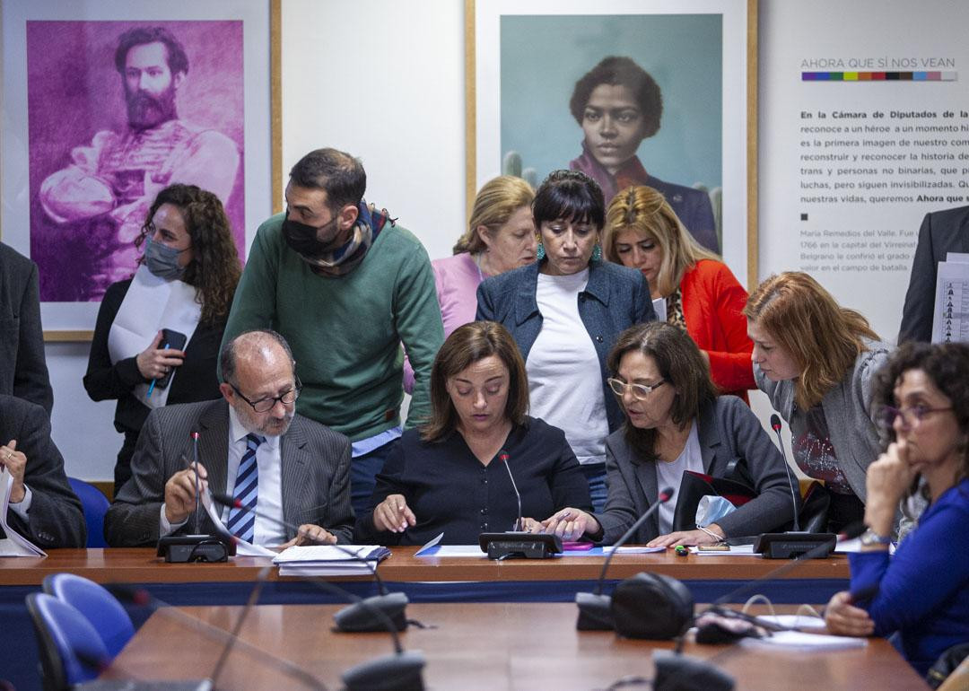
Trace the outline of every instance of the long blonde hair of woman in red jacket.
<instances>
[{"instance_id":1,"label":"long blonde hair of woman in red jacket","mask_svg":"<svg viewBox=\"0 0 969 691\"><path fill-rule=\"evenodd\" d=\"M655 287L664 297L672 295L683 274L700 260L720 261L693 239L663 194L652 187L627 187L612 198L606 209L603 234L603 252L610 262L622 264L615 248L615 236L626 230L636 231L659 245L663 259Z\"/></svg>"}]
</instances>

